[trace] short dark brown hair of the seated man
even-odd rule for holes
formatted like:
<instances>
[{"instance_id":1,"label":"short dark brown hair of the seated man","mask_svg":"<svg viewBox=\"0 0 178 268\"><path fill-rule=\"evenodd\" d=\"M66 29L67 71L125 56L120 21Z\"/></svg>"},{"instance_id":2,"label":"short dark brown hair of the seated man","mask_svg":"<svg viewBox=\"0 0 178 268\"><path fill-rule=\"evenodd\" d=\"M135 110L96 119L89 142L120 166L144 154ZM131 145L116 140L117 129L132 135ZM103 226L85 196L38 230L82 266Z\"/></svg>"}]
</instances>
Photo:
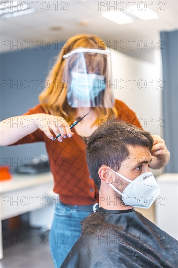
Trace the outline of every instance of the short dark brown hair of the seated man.
<instances>
[{"instance_id":1,"label":"short dark brown hair of the seated man","mask_svg":"<svg viewBox=\"0 0 178 268\"><path fill-rule=\"evenodd\" d=\"M116 118L107 120L90 136L86 148L87 164L98 190L101 185L99 168L107 165L118 171L122 161L129 156L128 146L151 150L153 138L149 132Z\"/></svg>"}]
</instances>

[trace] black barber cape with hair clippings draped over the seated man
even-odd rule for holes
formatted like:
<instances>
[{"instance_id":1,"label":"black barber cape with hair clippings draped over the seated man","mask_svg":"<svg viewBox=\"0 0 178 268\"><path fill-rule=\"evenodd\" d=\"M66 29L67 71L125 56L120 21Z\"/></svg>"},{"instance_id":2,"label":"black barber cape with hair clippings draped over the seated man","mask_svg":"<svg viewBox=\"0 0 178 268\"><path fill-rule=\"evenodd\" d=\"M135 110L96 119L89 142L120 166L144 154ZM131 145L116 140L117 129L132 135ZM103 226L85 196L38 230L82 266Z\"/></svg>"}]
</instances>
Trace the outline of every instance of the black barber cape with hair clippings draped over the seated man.
<instances>
[{"instance_id":1,"label":"black barber cape with hair clippings draped over the seated man","mask_svg":"<svg viewBox=\"0 0 178 268\"><path fill-rule=\"evenodd\" d=\"M100 207L82 226L61 268L178 268L178 241L134 209Z\"/></svg>"}]
</instances>

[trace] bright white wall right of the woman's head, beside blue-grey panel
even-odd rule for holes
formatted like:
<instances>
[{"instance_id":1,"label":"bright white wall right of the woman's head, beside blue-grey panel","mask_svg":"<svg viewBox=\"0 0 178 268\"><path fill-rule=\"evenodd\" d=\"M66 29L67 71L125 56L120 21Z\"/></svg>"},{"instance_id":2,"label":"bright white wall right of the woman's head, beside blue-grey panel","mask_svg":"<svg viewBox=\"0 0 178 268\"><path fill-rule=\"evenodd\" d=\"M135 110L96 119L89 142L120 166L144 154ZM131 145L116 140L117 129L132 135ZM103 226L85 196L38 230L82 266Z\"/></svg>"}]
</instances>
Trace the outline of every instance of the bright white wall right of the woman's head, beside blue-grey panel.
<instances>
[{"instance_id":1,"label":"bright white wall right of the woman's head, beside blue-grey panel","mask_svg":"<svg viewBox=\"0 0 178 268\"><path fill-rule=\"evenodd\" d=\"M117 79L117 89L114 89L115 97L124 101L125 104L136 112L138 118L145 119L141 121L145 130L151 132L151 134L162 136L162 128L159 128L161 121L157 121L163 117L162 90L158 89L161 81L159 83L157 82L158 79L162 79L160 51L155 52L154 64L115 50L112 50L111 53L113 81ZM125 82L122 82L121 79L125 79L127 82L125 89ZM131 88L131 81L128 79L136 79L133 82L133 89ZM144 89L140 89L137 86L140 79L146 81L146 87ZM153 79L155 79L155 89L153 89L153 83L151 82ZM141 81L140 87L143 86L144 82ZM153 118L155 118L155 126L151 121Z\"/></svg>"}]
</instances>

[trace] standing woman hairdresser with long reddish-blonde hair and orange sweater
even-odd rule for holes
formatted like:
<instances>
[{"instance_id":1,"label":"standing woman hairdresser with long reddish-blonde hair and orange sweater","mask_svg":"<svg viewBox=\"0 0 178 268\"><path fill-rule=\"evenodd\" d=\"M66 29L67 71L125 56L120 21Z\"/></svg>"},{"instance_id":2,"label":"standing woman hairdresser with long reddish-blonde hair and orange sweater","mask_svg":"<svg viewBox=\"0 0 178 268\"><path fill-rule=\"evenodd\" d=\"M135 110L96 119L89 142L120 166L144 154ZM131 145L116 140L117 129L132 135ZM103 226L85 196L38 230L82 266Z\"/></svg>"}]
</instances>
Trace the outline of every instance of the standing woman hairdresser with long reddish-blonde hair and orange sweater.
<instances>
[{"instance_id":1,"label":"standing woman hairdresser with long reddish-blonde hair and orange sweater","mask_svg":"<svg viewBox=\"0 0 178 268\"><path fill-rule=\"evenodd\" d=\"M95 212L99 202L86 163L87 139L102 122L113 117L141 128L135 113L114 99L109 64L109 52L100 38L87 34L70 38L49 73L49 87L40 94L40 104L12 117L12 120L18 118L19 126L11 129L9 123L1 129L2 146L45 142L54 178L53 191L59 196L50 230L55 267L61 266L79 238L80 221ZM90 110L85 120L71 131L70 125L76 118ZM24 118L30 122L28 128L20 124ZM53 142L58 134L61 134L59 143ZM169 151L159 136L153 137L152 154L157 168L163 157L164 164L168 162Z\"/></svg>"}]
</instances>

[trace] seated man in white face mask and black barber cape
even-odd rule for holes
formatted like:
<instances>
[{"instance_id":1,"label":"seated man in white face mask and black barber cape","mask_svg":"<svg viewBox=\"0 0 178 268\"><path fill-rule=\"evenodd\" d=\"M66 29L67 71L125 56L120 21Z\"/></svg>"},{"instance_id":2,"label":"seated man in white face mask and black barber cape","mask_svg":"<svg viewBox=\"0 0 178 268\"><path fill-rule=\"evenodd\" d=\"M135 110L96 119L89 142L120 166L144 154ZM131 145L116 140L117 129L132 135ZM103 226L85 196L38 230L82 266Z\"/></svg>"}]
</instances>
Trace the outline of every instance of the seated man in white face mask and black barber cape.
<instances>
[{"instance_id":1,"label":"seated man in white face mask and black barber cape","mask_svg":"<svg viewBox=\"0 0 178 268\"><path fill-rule=\"evenodd\" d=\"M91 135L87 162L99 209L83 221L62 268L178 267L177 240L133 208L149 208L159 194L152 146L150 133L122 121L108 120Z\"/></svg>"}]
</instances>

